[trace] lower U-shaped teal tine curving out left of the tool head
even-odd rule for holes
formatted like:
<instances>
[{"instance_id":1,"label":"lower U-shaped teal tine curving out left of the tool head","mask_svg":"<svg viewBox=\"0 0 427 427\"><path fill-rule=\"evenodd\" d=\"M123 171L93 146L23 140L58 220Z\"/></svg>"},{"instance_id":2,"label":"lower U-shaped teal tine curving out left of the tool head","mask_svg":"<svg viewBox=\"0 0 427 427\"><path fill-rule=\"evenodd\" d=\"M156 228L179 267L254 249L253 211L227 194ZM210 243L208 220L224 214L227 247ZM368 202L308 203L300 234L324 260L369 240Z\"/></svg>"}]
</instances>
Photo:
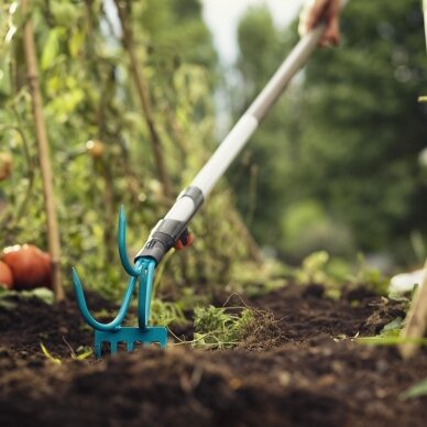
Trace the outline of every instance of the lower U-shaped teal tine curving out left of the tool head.
<instances>
[{"instance_id":1,"label":"lower U-shaped teal tine curving out left of the tool head","mask_svg":"<svg viewBox=\"0 0 427 427\"><path fill-rule=\"evenodd\" d=\"M73 284L74 289L76 292L77 297L77 304L78 308L80 309L81 316L87 321L88 325L90 325L94 329L103 330L103 331L111 331L113 329L117 329L120 327L120 324L123 321L124 316L128 313L129 305L132 299L133 291L135 288L136 278L138 277L131 277L129 280L128 288L124 293L122 305L119 309L119 313L117 314L114 320L110 321L109 324L100 324L98 320L96 320L89 313L85 299L85 294L83 292L83 286L80 278L78 277L76 269L73 267Z\"/></svg>"}]
</instances>

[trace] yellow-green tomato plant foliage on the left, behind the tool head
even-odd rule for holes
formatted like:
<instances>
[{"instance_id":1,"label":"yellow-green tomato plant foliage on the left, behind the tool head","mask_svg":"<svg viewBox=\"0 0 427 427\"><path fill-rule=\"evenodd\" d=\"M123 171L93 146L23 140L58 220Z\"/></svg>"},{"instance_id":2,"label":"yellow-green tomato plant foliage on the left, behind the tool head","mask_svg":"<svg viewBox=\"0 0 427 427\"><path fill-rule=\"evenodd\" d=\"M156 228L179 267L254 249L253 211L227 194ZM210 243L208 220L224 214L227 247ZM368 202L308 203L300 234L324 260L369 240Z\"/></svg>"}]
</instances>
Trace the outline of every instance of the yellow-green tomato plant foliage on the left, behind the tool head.
<instances>
[{"instance_id":1,"label":"yellow-green tomato plant foliage on the left, behind the tool head","mask_svg":"<svg viewBox=\"0 0 427 427\"><path fill-rule=\"evenodd\" d=\"M150 88L154 121L175 195L215 149L217 56L194 0L128 1L136 55ZM0 185L1 245L46 248L43 190L33 132L19 3L1 3L0 146L13 155L13 174ZM116 250L117 212L124 205L130 254L173 200L162 195L143 112L121 43L112 1L31 2L44 98L63 266L76 265L85 285L120 297L127 276ZM94 155L87 141L105 149ZM248 260L233 221L234 205L220 187L193 223L194 249L174 256L160 292L173 298L227 283L232 264ZM69 275L67 282L69 283ZM154 310L155 311L155 310ZM163 315L158 314L158 317ZM178 311L168 317L179 317ZM164 319L163 319L164 320Z\"/></svg>"}]
</instances>

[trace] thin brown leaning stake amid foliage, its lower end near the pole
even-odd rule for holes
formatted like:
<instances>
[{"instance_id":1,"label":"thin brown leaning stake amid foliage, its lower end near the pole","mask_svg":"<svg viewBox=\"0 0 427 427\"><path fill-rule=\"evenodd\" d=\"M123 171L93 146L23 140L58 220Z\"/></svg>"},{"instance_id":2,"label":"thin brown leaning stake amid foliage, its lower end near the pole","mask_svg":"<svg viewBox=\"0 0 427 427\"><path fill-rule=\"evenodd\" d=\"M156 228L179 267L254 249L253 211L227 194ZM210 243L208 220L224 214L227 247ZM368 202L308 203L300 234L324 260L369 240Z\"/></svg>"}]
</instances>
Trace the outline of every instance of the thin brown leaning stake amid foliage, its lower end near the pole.
<instances>
[{"instance_id":1,"label":"thin brown leaning stake amid foliage, its lower end near the pole","mask_svg":"<svg viewBox=\"0 0 427 427\"><path fill-rule=\"evenodd\" d=\"M136 86L138 95L141 100L142 110L144 111L146 127L149 128L157 173L163 185L163 194L165 197L169 198L172 197L171 179L166 172L165 162L163 160L162 142L157 129L155 127L153 110L150 101L150 94L146 88L143 75L140 70L140 66L138 64L136 52L133 45L133 32L130 23L128 22L129 17L125 12L127 1L114 0L114 2L123 32L122 43L124 48L128 51L129 58L131 62L131 73Z\"/></svg>"}]
</instances>

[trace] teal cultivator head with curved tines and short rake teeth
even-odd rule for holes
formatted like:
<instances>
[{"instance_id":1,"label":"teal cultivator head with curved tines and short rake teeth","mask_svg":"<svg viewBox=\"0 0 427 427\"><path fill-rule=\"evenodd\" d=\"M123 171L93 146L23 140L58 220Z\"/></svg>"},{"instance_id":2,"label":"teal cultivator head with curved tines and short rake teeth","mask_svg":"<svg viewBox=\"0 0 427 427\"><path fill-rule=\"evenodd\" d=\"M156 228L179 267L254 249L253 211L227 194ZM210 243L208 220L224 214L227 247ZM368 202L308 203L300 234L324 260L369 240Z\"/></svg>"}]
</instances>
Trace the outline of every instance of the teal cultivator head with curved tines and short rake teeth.
<instances>
[{"instance_id":1,"label":"teal cultivator head with curved tines and short rake teeth","mask_svg":"<svg viewBox=\"0 0 427 427\"><path fill-rule=\"evenodd\" d=\"M123 208L119 215L119 253L123 269L130 275L122 305L116 318L109 324L101 324L89 313L81 282L77 271L73 269L73 284L77 304L86 322L95 329L95 354L101 357L102 343L110 346L111 354L117 352L118 344L124 343L127 351L132 351L135 343L158 343L165 348L167 343L167 329L165 327L149 326L151 294L153 288L154 270L156 262L150 258L140 258L134 265L129 261L125 247L125 217ZM122 327L121 324L128 313L136 283L138 297L138 327Z\"/></svg>"}]
</instances>

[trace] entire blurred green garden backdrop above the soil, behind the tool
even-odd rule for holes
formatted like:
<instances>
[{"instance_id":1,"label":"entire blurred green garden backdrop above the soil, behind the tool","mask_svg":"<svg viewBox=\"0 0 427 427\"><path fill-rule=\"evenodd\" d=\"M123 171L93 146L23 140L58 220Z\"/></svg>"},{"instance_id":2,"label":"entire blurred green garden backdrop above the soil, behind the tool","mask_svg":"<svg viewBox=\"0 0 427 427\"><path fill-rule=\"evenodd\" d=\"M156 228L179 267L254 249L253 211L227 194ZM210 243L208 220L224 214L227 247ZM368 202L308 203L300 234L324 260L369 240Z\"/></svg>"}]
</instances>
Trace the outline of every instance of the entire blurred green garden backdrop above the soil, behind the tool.
<instances>
[{"instance_id":1,"label":"entire blurred green garden backdrop above the soil, behind the tool","mask_svg":"<svg viewBox=\"0 0 427 427\"><path fill-rule=\"evenodd\" d=\"M63 266L102 287L106 272L120 280L119 206L133 254L297 43L302 1L31 3ZM12 172L0 182L0 241L46 248L22 21L3 0L0 151ZM351 265L364 253L387 272L425 260L419 1L350 1L341 29L341 45L314 54L195 219L194 249L171 262L175 284L210 286L261 254L295 265L325 250Z\"/></svg>"}]
</instances>

